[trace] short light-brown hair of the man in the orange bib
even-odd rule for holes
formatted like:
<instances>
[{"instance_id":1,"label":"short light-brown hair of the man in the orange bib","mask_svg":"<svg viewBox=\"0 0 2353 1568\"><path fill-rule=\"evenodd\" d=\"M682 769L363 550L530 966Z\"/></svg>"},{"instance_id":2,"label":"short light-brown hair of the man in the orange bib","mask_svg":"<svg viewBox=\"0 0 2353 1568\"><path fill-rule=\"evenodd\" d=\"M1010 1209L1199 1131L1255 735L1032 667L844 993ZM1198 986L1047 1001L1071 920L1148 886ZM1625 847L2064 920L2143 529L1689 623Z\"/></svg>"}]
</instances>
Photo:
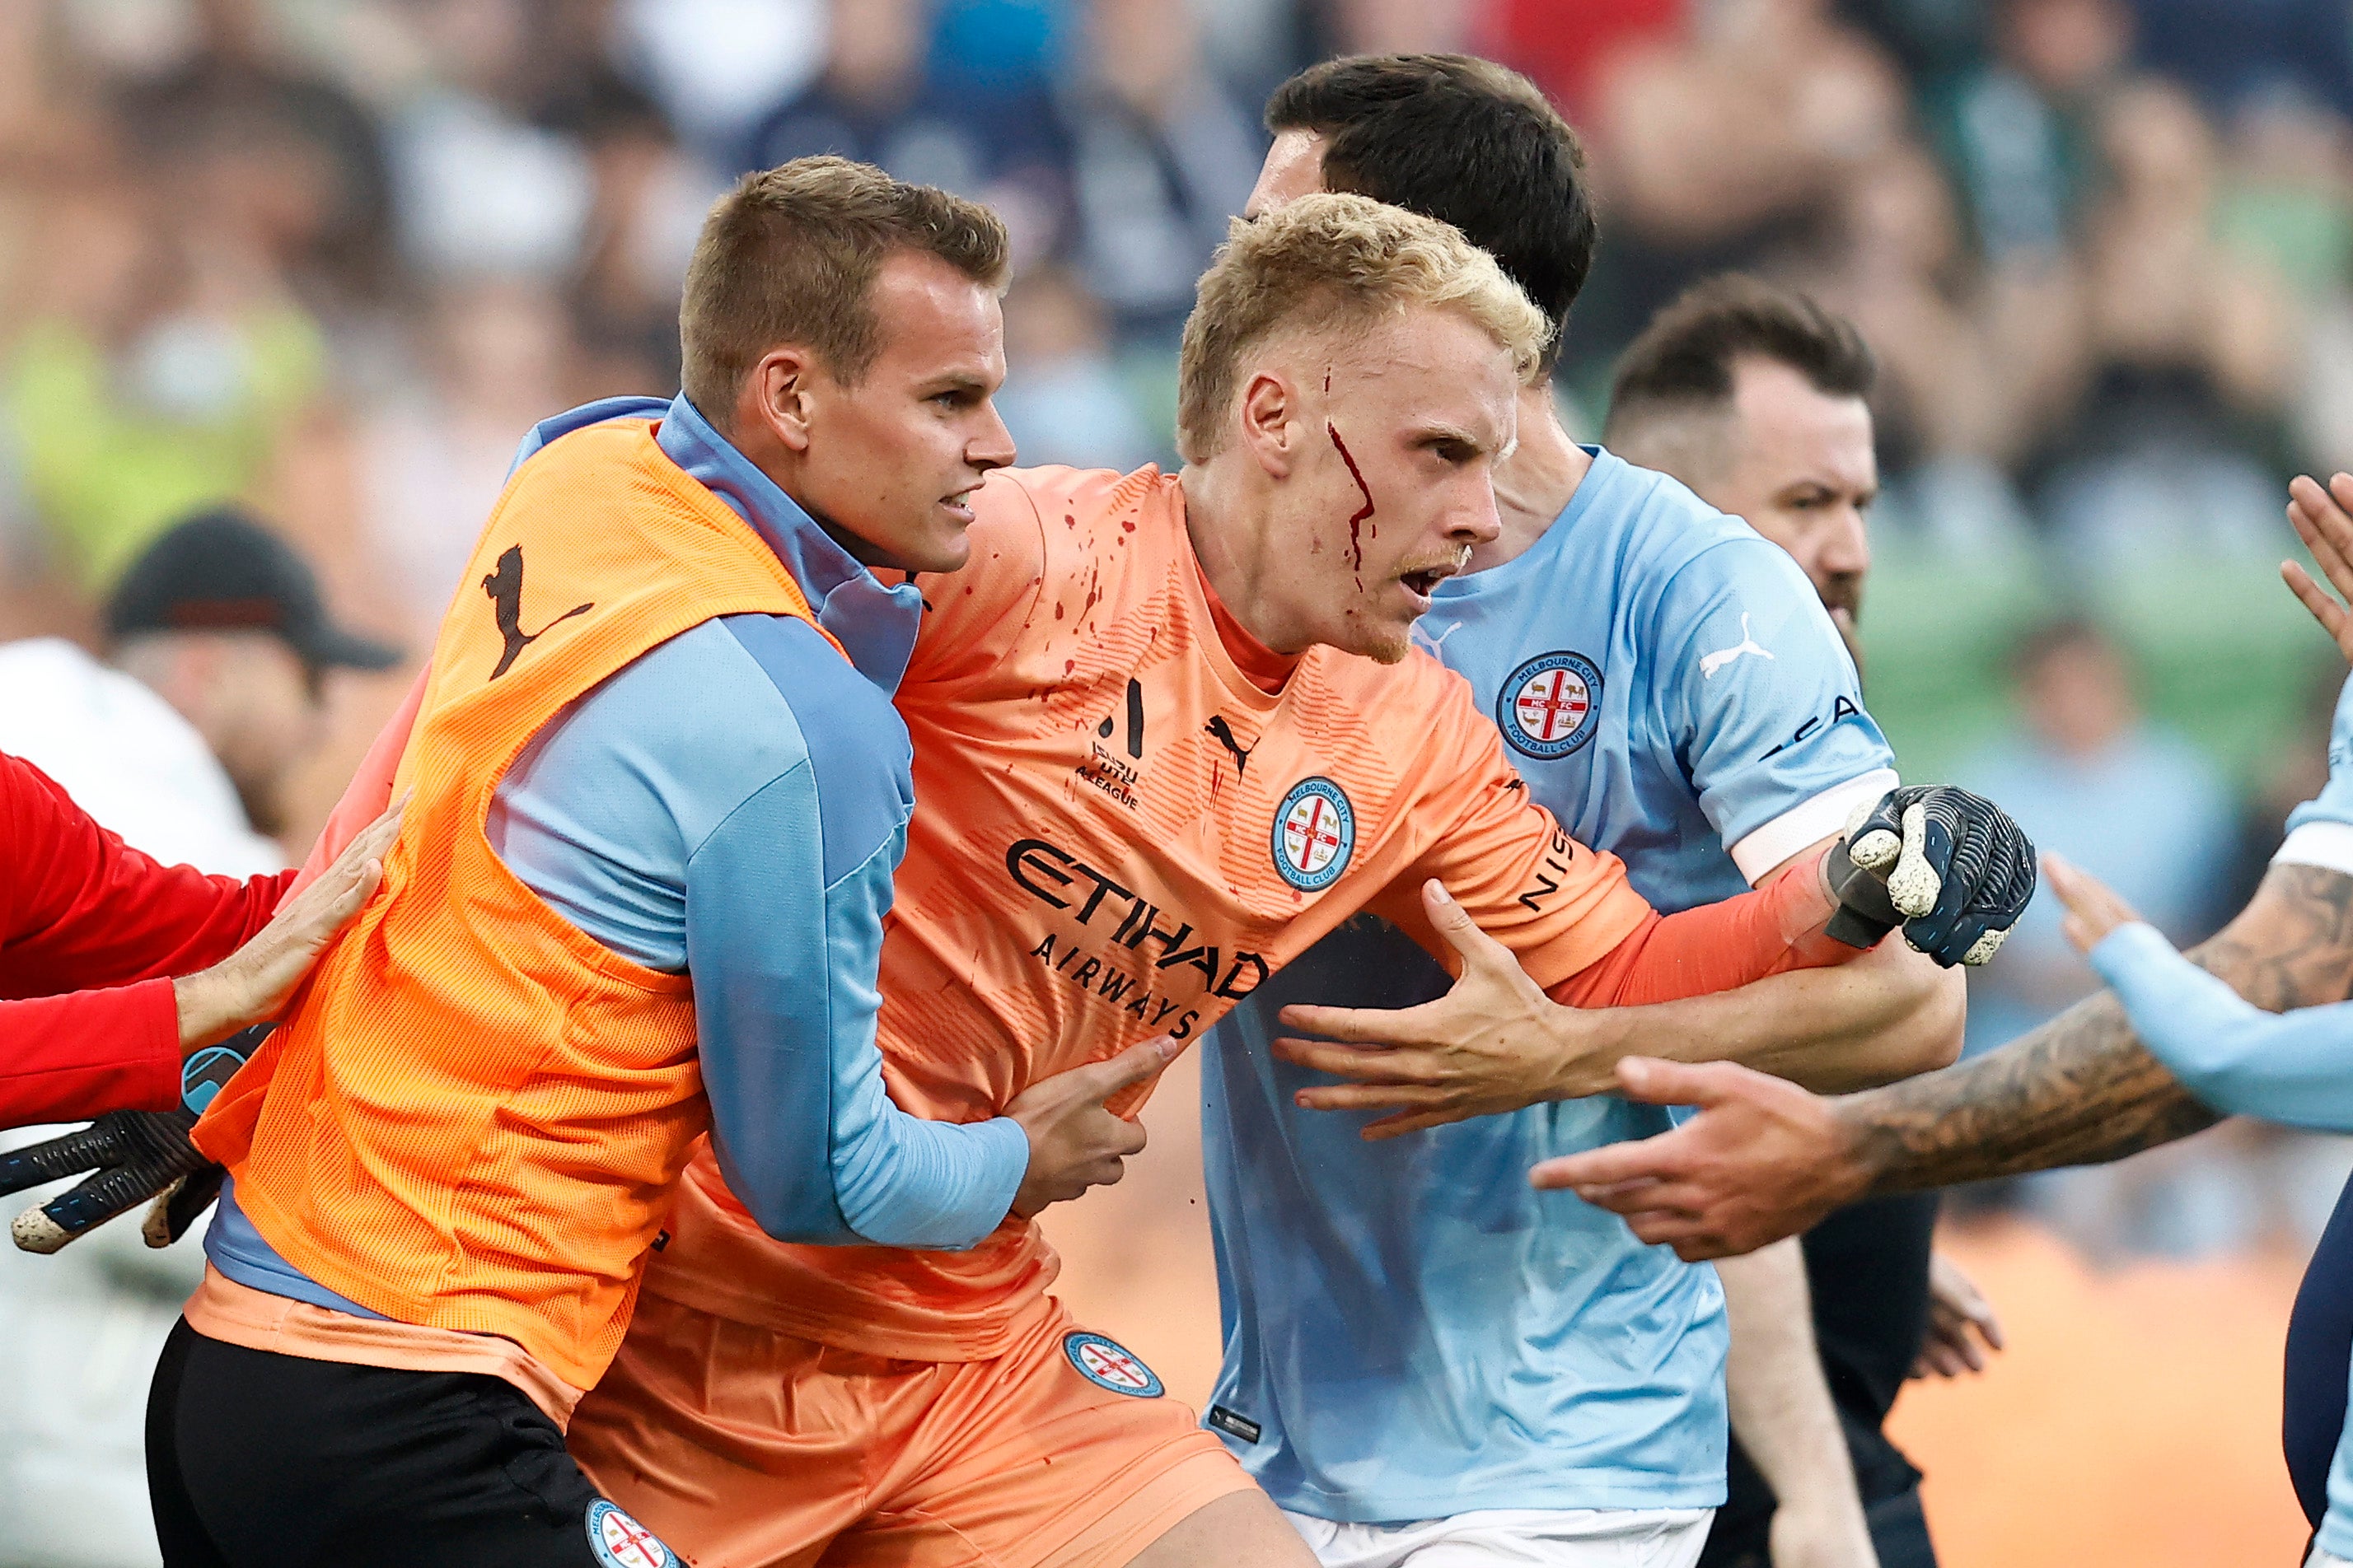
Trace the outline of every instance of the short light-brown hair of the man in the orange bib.
<instances>
[{"instance_id":1,"label":"short light-brown hair of the man in the orange bib","mask_svg":"<svg viewBox=\"0 0 2353 1568\"><path fill-rule=\"evenodd\" d=\"M807 346L835 381L856 386L882 350L868 292L901 249L1005 287L1005 223L979 202L847 158L746 174L704 219L687 263L678 310L687 402L725 428L744 376L776 343Z\"/></svg>"}]
</instances>

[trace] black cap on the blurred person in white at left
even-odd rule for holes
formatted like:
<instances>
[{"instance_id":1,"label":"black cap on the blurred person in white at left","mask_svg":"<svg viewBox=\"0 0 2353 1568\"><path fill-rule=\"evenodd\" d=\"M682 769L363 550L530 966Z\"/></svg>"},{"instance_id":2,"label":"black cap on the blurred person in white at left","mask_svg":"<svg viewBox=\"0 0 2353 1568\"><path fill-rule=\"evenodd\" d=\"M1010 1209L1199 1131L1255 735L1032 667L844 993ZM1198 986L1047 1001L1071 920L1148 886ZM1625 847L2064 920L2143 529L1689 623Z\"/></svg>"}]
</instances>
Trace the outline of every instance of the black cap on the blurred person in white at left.
<instances>
[{"instance_id":1,"label":"black cap on the blurred person in white at left","mask_svg":"<svg viewBox=\"0 0 2353 1568\"><path fill-rule=\"evenodd\" d=\"M273 632L313 668L400 663L393 644L329 621L311 562L233 505L198 512L151 543L115 583L106 630Z\"/></svg>"}]
</instances>

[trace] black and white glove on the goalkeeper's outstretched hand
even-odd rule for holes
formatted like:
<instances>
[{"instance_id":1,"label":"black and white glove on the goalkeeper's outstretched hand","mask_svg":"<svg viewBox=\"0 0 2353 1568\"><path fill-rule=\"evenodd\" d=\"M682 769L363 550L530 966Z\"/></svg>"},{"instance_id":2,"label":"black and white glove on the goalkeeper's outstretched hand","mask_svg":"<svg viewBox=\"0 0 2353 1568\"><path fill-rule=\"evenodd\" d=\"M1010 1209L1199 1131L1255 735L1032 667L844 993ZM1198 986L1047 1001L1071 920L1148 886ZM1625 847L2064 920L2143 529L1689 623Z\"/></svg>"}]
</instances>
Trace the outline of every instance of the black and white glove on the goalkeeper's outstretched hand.
<instances>
[{"instance_id":1,"label":"black and white glove on the goalkeeper's outstretched hand","mask_svg":"<svg viewBox=\"0 0 2353 1568\"><path fill-rule=\"evenodd\" d=\"M1826 867L1838 914L1828 933L1873 947L1904 940L1939 966L1984 964L2035 896L2035 846L1984 795L1906 785L1864 806Z\"/></svg>"}]
</instances>

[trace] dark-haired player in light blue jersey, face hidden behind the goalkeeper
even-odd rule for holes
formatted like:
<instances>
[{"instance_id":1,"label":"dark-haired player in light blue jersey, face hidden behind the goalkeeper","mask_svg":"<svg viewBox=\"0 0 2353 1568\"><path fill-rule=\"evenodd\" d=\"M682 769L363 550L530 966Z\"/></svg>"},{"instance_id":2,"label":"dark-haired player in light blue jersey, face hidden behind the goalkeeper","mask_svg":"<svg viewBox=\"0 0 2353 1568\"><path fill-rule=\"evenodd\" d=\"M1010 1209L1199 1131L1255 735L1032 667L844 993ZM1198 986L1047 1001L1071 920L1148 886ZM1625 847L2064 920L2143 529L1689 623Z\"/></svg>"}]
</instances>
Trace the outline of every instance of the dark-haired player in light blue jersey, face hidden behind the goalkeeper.
<instances>
[{"instance_id":1,"label":"dark-haired player in light blue jersey, face hidden behind the goalkeeper","mask_svg":"<svg viewBox=\"0 0 2353 1568\"><path fill-rule=\"evenodd\" d=\"M1280 87L1268 127L1254 214L1332 183L1445 216L1546 308L1558 357L1595 228L1577 134L1532 85L1461 56L1346 59ZM1527 790L1649 898L1687 907L1765 882L1894 783L1788 555L1572 442L1541 381L1520 395L1494 489L1501 536L1438 588L1417 642L1471 679ZM1838 985L1791 980L1713 999L1720 1018L1689 1032L1689 1053L1852 1086L1960 1048L1958 976L1904 943ZM1607 1039L1532 1067L1501 1044L1419 1048L1409 1016L1282 1013L1419 1004L1445 983L1398 931L1358 922L1219 1030L1202 1067L1226 1321L1209 1425L1327 1563L1581 1563L1645 1542L1645 1561L1687 1566L1725 1497L1715 1276L1609 1215L1522 1194L1515 1171L1534 1150L1664 1126L1572 1098L1607 1088ZM1282 1041L1285 1027L1374 1048ZM1294 1105L1395 1114L1365 1126ZM1417 1135L1388 1143L1400 1133ZM1802 1302L1795 1255L1772 1265ZM1781 1561L1871 1563L1807 1375L1809 1413L1779 1448L1812 1486L1784 1497Z\"/></svg>"}]
</instances>

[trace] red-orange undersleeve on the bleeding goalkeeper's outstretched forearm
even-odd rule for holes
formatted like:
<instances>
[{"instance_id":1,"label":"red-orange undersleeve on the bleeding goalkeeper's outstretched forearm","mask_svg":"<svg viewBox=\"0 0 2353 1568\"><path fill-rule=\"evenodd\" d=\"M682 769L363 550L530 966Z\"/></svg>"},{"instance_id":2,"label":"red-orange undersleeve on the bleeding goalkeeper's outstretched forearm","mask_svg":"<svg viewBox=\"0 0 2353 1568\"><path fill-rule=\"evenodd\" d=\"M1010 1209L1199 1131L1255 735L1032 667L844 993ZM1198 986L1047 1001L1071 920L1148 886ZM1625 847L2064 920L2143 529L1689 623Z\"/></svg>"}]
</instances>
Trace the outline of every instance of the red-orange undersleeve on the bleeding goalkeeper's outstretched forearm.
<instances>
[{"instance_id":1,"label":"red-orange undersleeve on the bleeding goalkeeper's outstretched forearm","mask_svg":"<svg viewBox=\"0 0 2353 1568\"><path fill-rule=\"evenodd\" d=\"M1739 898L1678 914L1652 912L1598 964L1579 969L1546 994L1569 1006L1642 1006L1861 957L1859 947L1821 936L1828 910L1819 863L1821 856L1807 856Z\"/></svg>"}]
</instances>

